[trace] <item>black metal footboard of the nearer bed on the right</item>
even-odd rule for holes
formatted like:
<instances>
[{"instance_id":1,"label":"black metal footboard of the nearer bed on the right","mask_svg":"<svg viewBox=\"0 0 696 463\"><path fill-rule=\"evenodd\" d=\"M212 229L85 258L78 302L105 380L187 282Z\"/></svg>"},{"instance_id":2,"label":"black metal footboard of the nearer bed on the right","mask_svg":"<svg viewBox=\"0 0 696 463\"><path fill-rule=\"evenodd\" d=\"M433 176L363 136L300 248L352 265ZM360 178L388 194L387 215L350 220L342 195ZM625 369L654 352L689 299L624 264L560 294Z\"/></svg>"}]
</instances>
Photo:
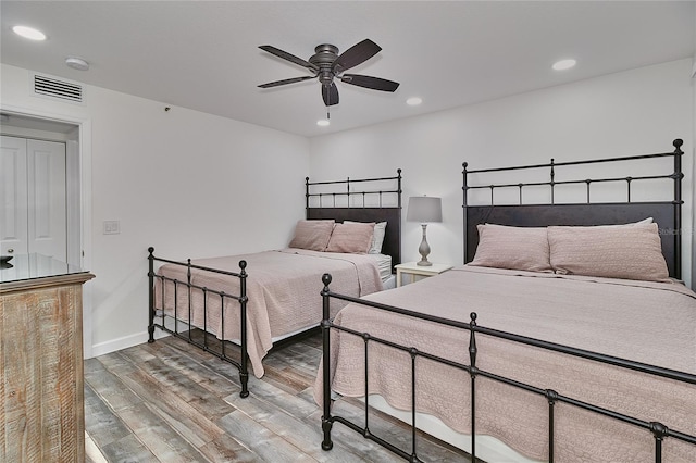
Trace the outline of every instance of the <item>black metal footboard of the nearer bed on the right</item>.
<instances>
[{"instance_id":1,"label":"black metal footboard of the nearer bed on the right","mask_svg":"<svg viewBox=\"0 0 696 463\"><path fill-rule=\"evenodd\" d=\"M438 362L445 365L448 365L452 368L457 368L460 371L464 371L468 372L470 377L471 377L471 401L470 401L470 410L471 410L471 458L473 462L476 462L476 420L475 420L475 411L476 411L476 403L475 403L475 397L476 397L476 387L477 387L477 383L476 383L476 378L477 377L485 377L487 379L492 379L498 383L502 383L506 384L508 386L514 387L514 388L519 388L519 389L523 389L525 391L532 392L534 395L540 396L546 398L547 402L548 402L548 461L549 462L554 462L554 458L555 458L555 450L554 450L554 421L555 421L555 405L557 403L566 403L566 404L570 404L576 408L580 408L582 410L585 411L589 411L599 415L604 415L613 420L617 420L619 422L625 423L625 424L630 424L633 426L637 426L642 429L645 429L646 431L648 431L652 437L654 441L655 441L655 461L656 462L661 462L662 461L662 443L664 441L666 438L670 437L673 439L679 439L681 441L684 442L688 442L691 445L694 446L694 452L696 454L696 436L693 435L688 435L685 433L681 433L679 430L674 430L674 429L670 429L668 428L664 424L662 423L658 423L658 422L646 422L633 416L629 416L616 411L611 411L605 408L600 408L597 405L593 405L591 403L586 403L580 400L576 400L574 398L571 397L566 397L562 396L560 393L558 393L557 391L552 390L552 389L542 389L539 387L535 387L529 384L524 384L524 383L520 383L520 381L515 381L513 379L504 377L504 376L499 376L496 375L494 373L490 372L486 372L483 370L480 370L476 366L476 356L481 355L481 354L485 354L485 352L478 352L478 349L476 347L476 334L483 334L483 335L487 335L487 336L492 336L495 338L500 338L500 339L506 339L506 340L510 340L513 342L519 342L521 345L526 345L526 346L533 346L536 348L542 348L542 349L546 349L546 350L550 350L550 351L555 351L555 352L560 352L562 354L567 354L567 355L573 355L573 356L580 356L583 359L588 359L595 362L600 362L604 364L610 364L610 365L616 365L618 367L622 367L622 368L629 368L629 370L633 370L633 371L637 371L637 372L642 372L642 373L647 373L650 375L656 375L659 377L664 377L664 378L670 378L676 381L682 381L685 384L691 384L691 385L696 385L696 375L693 374L687 374L687 373L682 373L682 372L678 372L678 371L673 371L673 370L668 370L668 368L661 368L661 367L657 367L657 366L652 366L652 365L648 365L648 364L644 364L644 363L638 363L638 362L633 362L633 361L629 361L629 360L624 360L624 359L619 359L619 358L614 358L614 356L610 356L610 355L604 355L604 354L598 354L595 352L589 352L586 350L582 350L582 349L575 349L575 348L571 348L571 347L567 347L567 346L561 346L558 343L552 343L552 342L547 342L547 341L543 341L543 340L538 340L538 339L533 339L533 338L529 338L529 337L524 337L524 336L519 336L519 335L514 335L514 334L510 334L510 333L506 333L506 331L499 331L496 329L490 329L490 328L486 328L483 326L478 326L476 324L476 313L472 312L470 317L471 321L470 323L462 323L462 322L456 322L456 321L450 321L450 320L446 320L446 318L440 318L437 316L432 316L432 315L427 315L427 314L422 314L422 313L418 313L418 312L412 312L409 310L405 310L405 309L400 309L400 308L396 308L396 306L391 306L391 305L385 305L385 304L381 304L381 303L376 303L376 302L372 302L369 300L362 300L362 299L358 299L358 298L352 298L352 297L348 297L348 296L343 296L343 295L338 295L335 292L332 292L328 288L330 284L331 284L331 275L325 274L322 277L322 281L324 284L324 289L322 290L322 298L323 298L323 320L321 323L321 328L322 328L322 342L323 342L323 371L322 371L322 376L323 376L323 416L322 416L322 430L323 430L323 441L322 441L322 449L324 450L331 450L333 448L333 441L332 441L332 436L331 436L331 431L332 431L332 426L334 423L341 423L345 426L347 426L348 428L361 434L364 438L373 440L375 442L377 442L378 445L385 447L386 449L390 450L391 452L400 455L401 458L411 461L411 462L421 462L422 460L419 458L418 455L418 435L417 435L417 430L415 430L415 420L417 420L417 412L415 412L415 406L413 406L413 404L415 403L415 359L417 358L424 358L434 362ZM362 304L362 305L368 305L374 309L378 309L378 310L383 310L383 311L387 311L387 312L393 312L393 313L397 313L397 314L401 314L401 315L407 315L407 316L411 316L414 318L419 318L419 320L424 320L424 321L428 321L428 322L434 322L434 323L438 323L442 324L444 326L449 326L449 327L455 327L455 328L461 328L462 330L467 330L469 331L469 334L467 335L469 337L469 364L463 364L463 363L458 363L448 359L444 359L440 356L436 356L436 355L432 355L427 352L423 352L420 351L419 349L415 349L413 347L408 347L408 346L401 346L395 342L391 342L389 340L386 339L381 339L377 337L373 337L368 333L359 333L346 327L343 327L340 325L336 325L333 323L333 320L331 318L331 314L330 314L330 303L331 303L331 299L335 298L335 299L340 299L344 301L348 301L348 302L353 302L353 303L358 303L358 304ZM357 336L359 338L361 338L364 342L365 346L365 358L364 358L364 367L365 367L365 385L364 385L364 391L365 391L365 411L364 411L364 426L363 425L359 425L356 424L355 422L349 421L348 418L344 417L344 416L337 416L337 415L332 415L332 391L331 391L331 361L330 361L330 356L331 356L331 330L332 329L336 329L338 331L341 333L346 333L349 335L353 335ZM383 346L388 346L393 349L397 349L403 352L407 352L410 358L411 358L411 378L410 378L410 387L411 387L411 449L409 451L403 450L403 449L399 449L397 447L395 447L394 445L391 445L390 442L387 442L386 440L380 438L378 436L375 436L372 434L372 431L370 430L369 427L369 413L368 413L368 408L369 408L369 401L366 400L368 397L368 381L369 381L369 376L368 376L368 345L370 342L375 342L375 343L380 343ZM648 433L646 433L646 438L648 437Z\"/></svg>"}]
</instances>

